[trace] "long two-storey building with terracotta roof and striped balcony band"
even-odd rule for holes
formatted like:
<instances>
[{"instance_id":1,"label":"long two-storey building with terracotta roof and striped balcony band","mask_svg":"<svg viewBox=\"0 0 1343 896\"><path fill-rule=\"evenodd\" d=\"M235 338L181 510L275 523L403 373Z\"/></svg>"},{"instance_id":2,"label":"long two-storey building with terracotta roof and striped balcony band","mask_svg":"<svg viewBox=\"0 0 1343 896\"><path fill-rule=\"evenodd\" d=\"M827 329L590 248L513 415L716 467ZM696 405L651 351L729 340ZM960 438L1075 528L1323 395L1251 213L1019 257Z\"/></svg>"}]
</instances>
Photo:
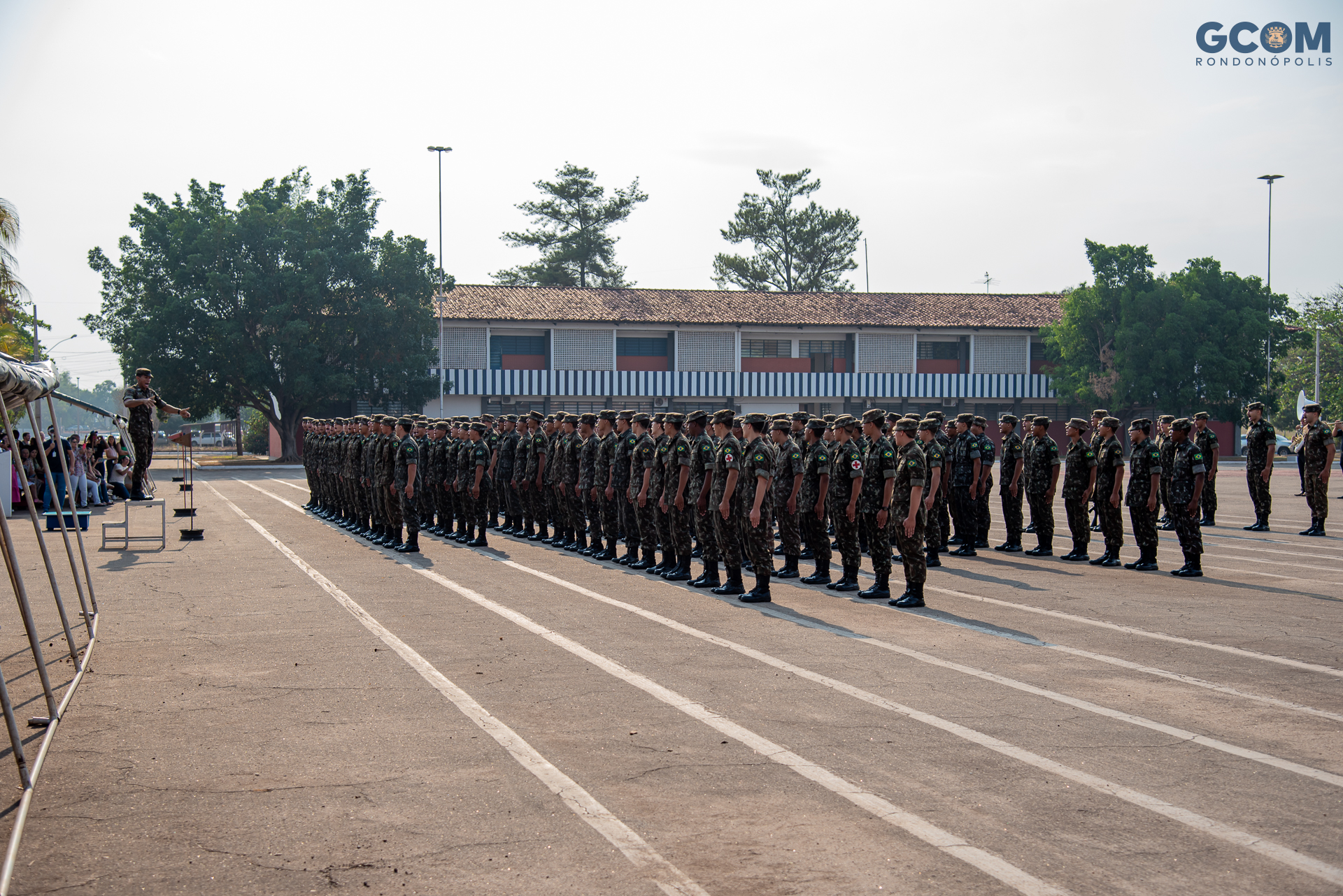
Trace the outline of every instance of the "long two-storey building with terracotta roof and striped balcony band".
<instances>
[{"instance_id":1,"label":"long two-storey building with terracotta roof and striped balcony band","mask_svg":"<svg viewBox=\"0 0 1343 896\"><path fill-rule=\"evenodd\" d=\"M1039 329L1061 300L458 286L438 302L443 408L1048 413Z\"/></svg>"}]
</instances>

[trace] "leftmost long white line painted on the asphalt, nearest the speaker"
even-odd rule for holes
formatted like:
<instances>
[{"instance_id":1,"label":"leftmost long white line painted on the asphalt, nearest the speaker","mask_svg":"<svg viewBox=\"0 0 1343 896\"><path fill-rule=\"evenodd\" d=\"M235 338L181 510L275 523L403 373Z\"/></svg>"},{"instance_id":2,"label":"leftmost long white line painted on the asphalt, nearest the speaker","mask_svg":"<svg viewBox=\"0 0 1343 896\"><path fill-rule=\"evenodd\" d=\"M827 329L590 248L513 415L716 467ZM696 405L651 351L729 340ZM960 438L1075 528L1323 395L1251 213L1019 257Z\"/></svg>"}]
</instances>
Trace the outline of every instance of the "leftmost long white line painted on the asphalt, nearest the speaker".
<instances>
[{"instance_id":1,"label":"leftmost long white line painted on the asphalt, nearest the speaker","mask_svg":"<svg viewBox=\"0 0 1343 896\"><path fill-rule=\"evenodd\" d=\"M563 799L564 805L573 810L573 814L591 825L592 829L606 837L611 845L624 853L624 857L634 862L637 868L643 871L649 879L662 889L662 892L681 896L688 893L693 893L694 896L708 896L704 888L690 880L676 865L663 858L655 849L649 846L642 837L634 833L634 830L631 830L623 821L611 814L606 806L599 803L592 794L580 787L577 782L551 765L545 757L537 752L526 740L520 738L516 731L490 715L489 711L471 699L466 691L457 687L453 681L445 677L442 672L435 669L428 660L383 628L377 620L369 616L368 612L345 594L345 592L336 587L330 579L309 566L298 554L289 550L283 542L266 531L261 523L244 514L238 504L224 498L218 488L210 483L205 484L210 486L210 490L219 495L219 498L228 504L235 514L242 516L243 522L255 528L262 538L269 541L275 547L275 550L287 557L294 566L304 570L304 573L317 582L324 592L336 598L337 604L349 610L351 616L359 620L364 628L376 634L387 647L395 651L398 656L406 660L412 669L419 672L420 677L428 681L434 689L461 710L462 715L475 723L481 731L494 738L501 747L508 750L509 755L513 757L520 766L536 775L541 783L549 787L551 793Z\"/></svg>"}]
</instances>

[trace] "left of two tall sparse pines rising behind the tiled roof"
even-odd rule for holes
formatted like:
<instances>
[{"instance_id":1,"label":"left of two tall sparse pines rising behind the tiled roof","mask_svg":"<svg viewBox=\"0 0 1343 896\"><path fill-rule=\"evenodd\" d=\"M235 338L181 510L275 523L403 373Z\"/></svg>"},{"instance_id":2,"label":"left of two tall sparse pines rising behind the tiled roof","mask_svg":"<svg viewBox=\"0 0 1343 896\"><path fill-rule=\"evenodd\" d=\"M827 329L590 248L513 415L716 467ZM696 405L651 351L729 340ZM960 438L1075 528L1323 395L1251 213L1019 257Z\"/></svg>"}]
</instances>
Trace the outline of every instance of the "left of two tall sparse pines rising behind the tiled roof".
<instances>
[{"instance_id":1,"label":"left of two tall sparse pines rising behind the tiled roof","mask_svg":"<svg viewBox=\"0 0 1343 896\"><path fill-rule=\"evenodd\" d=\"M615 241L610 229L649 197L634 178L626 189L616 189L606 199L606 188L596 185L588 168L565 162L555 172L553 181L536 181L539 201L521 203L517 208L536 224L530 231L510 231L501 239L513 248L536 248L541 258L494 274L504 286L595 286L623 288L634 286L624 279L624 268L615 263Z\"/></svg>"}]
</instances>

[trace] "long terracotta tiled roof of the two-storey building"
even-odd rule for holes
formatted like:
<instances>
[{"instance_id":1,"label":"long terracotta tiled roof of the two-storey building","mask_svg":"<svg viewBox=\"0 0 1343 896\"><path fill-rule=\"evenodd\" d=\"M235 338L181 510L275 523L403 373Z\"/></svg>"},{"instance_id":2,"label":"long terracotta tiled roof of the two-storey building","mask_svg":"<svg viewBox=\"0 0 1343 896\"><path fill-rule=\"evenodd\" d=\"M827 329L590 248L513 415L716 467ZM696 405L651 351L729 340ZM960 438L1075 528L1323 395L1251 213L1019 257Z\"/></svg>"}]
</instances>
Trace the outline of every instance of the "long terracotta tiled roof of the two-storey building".
<instances>
[{"instance_id":1,"label":"long terracotta tiled roof of the two-storey building","mask_svg":"<svg viewBox=\"0 0 1343 896\"><path fill-rule=\"evenodd\" d=\"M458 286L442 300L453 321L708 323L784 326L1041 327L1061 295L1007 292L745 292Z\"/></svg>"}]
</instances>

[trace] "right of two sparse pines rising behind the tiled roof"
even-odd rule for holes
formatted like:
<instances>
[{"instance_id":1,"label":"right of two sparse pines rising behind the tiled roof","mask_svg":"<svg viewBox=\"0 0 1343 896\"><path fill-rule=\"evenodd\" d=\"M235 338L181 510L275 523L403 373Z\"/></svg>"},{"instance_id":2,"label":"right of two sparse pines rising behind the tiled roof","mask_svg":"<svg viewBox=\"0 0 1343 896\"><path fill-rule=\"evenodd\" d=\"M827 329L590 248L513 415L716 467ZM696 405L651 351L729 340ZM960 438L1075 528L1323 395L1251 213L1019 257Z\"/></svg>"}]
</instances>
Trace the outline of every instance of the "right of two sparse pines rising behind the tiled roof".
<instances>
[{"instance_id":1,"label":"right of two sparse pines rising behind the tiled roof","mask_svg":"<svg viewBox=\"0 0 1343 896\"><path fill-rule=\"evenodd\" d=\"M737 213L720 231L733 245L751 243L755 255L716 255L713 282L720 290L853 291L845 274L858 267L853 260L862 239L858 219L842 208L821 208L815 200L795 208L821 189L821 181L810 176L810 168L795 174L756 170L770 193L743 196Z\"/></svg>"}]
</instances>

